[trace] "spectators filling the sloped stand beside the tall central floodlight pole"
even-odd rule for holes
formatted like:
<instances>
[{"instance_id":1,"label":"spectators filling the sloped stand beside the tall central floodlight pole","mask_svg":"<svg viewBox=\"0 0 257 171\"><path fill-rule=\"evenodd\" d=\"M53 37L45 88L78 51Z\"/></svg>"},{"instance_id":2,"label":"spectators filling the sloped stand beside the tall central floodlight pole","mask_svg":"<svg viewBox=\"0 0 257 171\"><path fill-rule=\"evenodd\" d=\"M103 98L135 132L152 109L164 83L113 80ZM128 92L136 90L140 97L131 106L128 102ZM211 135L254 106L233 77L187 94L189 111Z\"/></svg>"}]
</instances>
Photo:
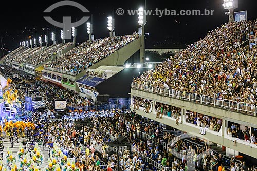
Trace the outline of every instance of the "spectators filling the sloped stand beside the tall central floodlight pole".
<instances>
[{"instance_id":1,"label":"spectators filling the sloped stand beside the tall central floodlight pole","mask_svg":"<svg viewBox=\"0 0 257 171\"><path fill-rule=\"evenodd\" d=\"M80 73L137 38L138 34L134 34L87 41L53 60L48 67Z\"/></svg>"}]
</instances>

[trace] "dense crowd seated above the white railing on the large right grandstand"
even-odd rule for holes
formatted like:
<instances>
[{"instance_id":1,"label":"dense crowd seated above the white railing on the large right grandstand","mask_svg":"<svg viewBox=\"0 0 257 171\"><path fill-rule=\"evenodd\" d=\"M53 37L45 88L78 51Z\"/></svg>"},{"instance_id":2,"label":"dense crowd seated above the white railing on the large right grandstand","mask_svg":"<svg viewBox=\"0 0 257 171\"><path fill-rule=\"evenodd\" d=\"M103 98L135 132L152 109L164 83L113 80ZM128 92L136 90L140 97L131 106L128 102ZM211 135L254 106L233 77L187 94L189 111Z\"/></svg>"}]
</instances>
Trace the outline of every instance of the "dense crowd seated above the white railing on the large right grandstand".
<instances>
[{"instance_id":1,"label":"dense crowd seated above the white railing on the large right grandstand","mask_svg":"<svg viewBox=\"0 0 257 171\"><path fill-rule=\"evenodd\" d=\"M235 44L256 37L256 28L257 20L224 24L133 82L236 100L254 110L257 49Z\"/></svg>"}]
</instances>

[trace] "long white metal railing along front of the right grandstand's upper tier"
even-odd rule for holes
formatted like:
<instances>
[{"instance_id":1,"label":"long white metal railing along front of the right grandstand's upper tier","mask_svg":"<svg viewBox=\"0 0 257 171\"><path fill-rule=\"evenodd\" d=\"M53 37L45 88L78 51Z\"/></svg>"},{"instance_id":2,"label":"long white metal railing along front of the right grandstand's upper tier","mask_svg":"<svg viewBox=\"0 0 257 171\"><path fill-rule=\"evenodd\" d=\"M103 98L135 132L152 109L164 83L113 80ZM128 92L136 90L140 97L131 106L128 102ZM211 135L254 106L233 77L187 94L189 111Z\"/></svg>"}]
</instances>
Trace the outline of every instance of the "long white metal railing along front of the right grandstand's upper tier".
<instances>
[{"instance_id":1,"label":"long white metal railing along front of the right grandstand's upper tier","mask_svg":"<svg viewBox=\"0 0 257 171\"><path fill-rule=\"evenodd\" d=\"M172 98L181 99L181 100L187 100L190 102L204 104L204 105L211 105L219 108L229 109L236 112L241 112L244 114L256 116L257 106L246 102L238 102L235 100L210 97L208 95L190 93L190 92L180 91L175 89L153 87L151 85L137 84L134 82L131 84L131 88L147 91L155 94L160 94L162 96L172 97Z\"/></svg>"}]
</instances>

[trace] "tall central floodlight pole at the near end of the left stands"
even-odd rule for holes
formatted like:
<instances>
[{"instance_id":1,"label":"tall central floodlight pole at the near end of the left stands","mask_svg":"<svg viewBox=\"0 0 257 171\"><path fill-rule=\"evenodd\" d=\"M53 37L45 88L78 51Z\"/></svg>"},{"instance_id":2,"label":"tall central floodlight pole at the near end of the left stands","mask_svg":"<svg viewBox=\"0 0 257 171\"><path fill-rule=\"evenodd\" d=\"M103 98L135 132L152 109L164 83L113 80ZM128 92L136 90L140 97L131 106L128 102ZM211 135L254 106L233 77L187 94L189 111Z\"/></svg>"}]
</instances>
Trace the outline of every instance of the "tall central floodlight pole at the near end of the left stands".
<instances>
[{"instance_id":1,"label":"tall central floodlight pole at the near end of the left stands","mask_svg":"<svg viewBox=\"0 0 257 171\"><path fill-rule=\"evenodd\" d=\"M139 36L140 36L140 63L144 64L144 56L145 56L144 26L146 25L146 15L143 7L138 8L138 24L141 25L141 28L139 28L138 30Z\"/></svg>"}]
</instances>

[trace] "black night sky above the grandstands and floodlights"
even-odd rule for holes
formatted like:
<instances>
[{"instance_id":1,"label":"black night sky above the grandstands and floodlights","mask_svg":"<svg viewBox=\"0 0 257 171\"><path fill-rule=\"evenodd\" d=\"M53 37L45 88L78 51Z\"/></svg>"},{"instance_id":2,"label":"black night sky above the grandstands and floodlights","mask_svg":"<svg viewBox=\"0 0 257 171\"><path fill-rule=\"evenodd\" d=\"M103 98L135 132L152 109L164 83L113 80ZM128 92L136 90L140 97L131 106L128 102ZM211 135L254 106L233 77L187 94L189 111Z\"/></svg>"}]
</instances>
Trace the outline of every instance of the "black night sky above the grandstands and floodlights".
<instances>
[{"instance_id":1,"label":"black night sky above the grandstands and floodlights","mask_svg":"<svg viewBox=\"0 0 257 171\"><path fill-rule=\"evenodd\" d=\"M32 4L26 1L5 1L1 2L0 9L0 35L3 37L4 49L13 50L19 46L19 42L24 41L29 35L38 37L48 34L49 42L50 33L57 31L57 40L59 43L61 28L55 28L47 23L43 16L43 11L50 5L59 1L34 1ZM107 16L113 15L113 11L118 8L138 9L144 5L144 0L130 1L77 1L86 7L90 14L93 15L93 34L95 39L107 37ZM212 30L222 23L228 22L228 16L225 15L226 10L222 6L223 0L184 0L184 1L163 1L163 0L146 0L146 8L155 10L188 10L188 9L204 9L214 10L213 16L148 16L148 23L145 31L149 32L146 48L176 48L178 44L193 43L204 37L208 30ZM248 19L255 19L257 13L256 0L238 0L238 6L235 11L247 10ZM126 12L127 13L127 12ZM115 31L116 35L132 34L138 30L137 15L129 16L128 14L118 16L115 14ZM52 11L49 15L57 21L62 21L62 16L72 16L72 22L80 20L84 16L79 9L75 7L59 7ZM88 14L87 14L88 15ZM89 19L91 21L91 18ZM42 28L49 27L50 30ZM47 33L48 32L48 33ZM88 39L86 33L86 24L77 28L77 42L83 42ZM44 38L43 38L44 40ZM1 47L0 47L1 48ZM4 51L7 53L7 51ZM1 53L2 55L2 53Z\"/></svg>"}]
</instances>

